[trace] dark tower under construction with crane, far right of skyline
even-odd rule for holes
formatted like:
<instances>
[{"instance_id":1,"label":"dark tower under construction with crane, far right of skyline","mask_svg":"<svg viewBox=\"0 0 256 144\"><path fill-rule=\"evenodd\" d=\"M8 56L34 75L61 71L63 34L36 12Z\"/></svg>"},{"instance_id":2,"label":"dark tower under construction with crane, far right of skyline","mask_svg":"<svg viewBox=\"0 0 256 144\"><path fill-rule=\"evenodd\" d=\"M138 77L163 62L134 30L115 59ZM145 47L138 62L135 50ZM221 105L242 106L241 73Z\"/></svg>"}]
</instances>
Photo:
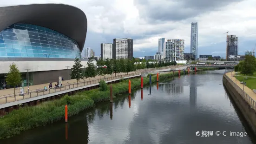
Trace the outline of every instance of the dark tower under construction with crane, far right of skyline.
<instances>
[{"instance_id":1,"label":"dark tower under construction with crane, far right of skyline","mask_svg":"<svg viewBox=\"0 0 256 144\"><path fill-rule=\"evenodd\" d=\"M238 37L236 35L227 36L226 60L230 55L238 55Z\"/></svg>"}]
</instances>

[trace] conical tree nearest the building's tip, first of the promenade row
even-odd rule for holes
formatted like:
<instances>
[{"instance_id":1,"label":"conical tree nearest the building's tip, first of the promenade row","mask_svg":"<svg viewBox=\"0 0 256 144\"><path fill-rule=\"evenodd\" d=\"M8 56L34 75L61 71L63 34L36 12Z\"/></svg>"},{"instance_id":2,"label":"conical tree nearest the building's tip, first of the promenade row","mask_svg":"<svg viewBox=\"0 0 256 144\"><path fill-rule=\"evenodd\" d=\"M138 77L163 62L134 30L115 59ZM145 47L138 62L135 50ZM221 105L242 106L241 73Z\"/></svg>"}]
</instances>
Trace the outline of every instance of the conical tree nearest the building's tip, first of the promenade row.
<instances>
[{"instance_id":1,"label":"conical tree nearest the building's tip, first of the promenade row","mask_svg":"<svg viewBox=\"0 0 256 144\"><path fill-rule=\"evenodd\" d=\"M83 70L81 68L83 65L81 64L81 61L78 58L76 58L74 62L75 64L71 68L71 79L76 79L78 85L78 81L80 79L84 79L82 75Z\"/></svg>"}]
</instances>

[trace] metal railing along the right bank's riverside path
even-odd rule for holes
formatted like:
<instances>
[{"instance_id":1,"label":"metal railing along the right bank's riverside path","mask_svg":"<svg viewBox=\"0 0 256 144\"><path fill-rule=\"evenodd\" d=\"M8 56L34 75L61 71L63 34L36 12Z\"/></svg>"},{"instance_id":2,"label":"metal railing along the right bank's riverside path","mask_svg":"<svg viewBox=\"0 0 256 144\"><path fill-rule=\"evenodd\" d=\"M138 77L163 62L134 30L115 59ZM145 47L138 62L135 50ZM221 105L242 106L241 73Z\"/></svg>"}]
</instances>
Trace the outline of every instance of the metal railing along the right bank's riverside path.
<instances>
[{"instance_id":1,"label":"metal railing along the right bank's riverside path","mask_svg":"<svg viewBox=\"0 0 256 144\"><path fill-rule=\"evenodd\" d=\"M251 98L246 92L244 92L240 86L236 85L236 83L226 75L226 73L228 72L234 72L234 71L232 70L226 71L224 73L224 77L228 79L230 84L233 85L236 91L243 97L245 101L247 101L247 103L251 106L251 108L256 110L256 101L253 98Z\"/></svg>"}]
</instances>

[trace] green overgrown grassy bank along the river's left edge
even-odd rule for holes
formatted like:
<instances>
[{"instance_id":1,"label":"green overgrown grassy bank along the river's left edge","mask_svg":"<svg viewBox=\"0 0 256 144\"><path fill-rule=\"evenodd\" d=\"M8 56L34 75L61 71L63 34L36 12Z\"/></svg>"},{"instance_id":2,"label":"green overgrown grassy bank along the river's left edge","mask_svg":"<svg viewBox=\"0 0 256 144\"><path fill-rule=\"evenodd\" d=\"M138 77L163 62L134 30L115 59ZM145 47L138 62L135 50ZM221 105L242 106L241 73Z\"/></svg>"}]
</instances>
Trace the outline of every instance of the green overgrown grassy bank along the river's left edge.
<instances>
[{"instance_id":1,"label":"green overgrown grassy bank along the river's left edge","mask_svg":"<svg viewBox=\"0 0 256 144\"><path fill-rule=\"evenodd\" d=\"M181 71L181 74L184 74ZM175 76L178 72L175 72ZM159 80L172 78L173 72L166 74L159 74ZM156 82L157 77L153 75L151 78L152 83ZM144 78L144 85L149 84L149 77ZM140 78L131 79L131 90L139 88L141 85ZM128 92L128 80L121 80L117 84L112 84L113 95ZM53 122L64 119L65 105L68 105L68 116L78 114L80 111L92 108L95 103L110 100L110 90L99 91L93 89L90 91L79 92L70 97L65 96L60 99L48 101L35 106L22 107L19 110L13 110L6 116L0 118L0 139L9 138L20 131L32 129L34 127L51 124Z\"/></svg>"}]
</instances>

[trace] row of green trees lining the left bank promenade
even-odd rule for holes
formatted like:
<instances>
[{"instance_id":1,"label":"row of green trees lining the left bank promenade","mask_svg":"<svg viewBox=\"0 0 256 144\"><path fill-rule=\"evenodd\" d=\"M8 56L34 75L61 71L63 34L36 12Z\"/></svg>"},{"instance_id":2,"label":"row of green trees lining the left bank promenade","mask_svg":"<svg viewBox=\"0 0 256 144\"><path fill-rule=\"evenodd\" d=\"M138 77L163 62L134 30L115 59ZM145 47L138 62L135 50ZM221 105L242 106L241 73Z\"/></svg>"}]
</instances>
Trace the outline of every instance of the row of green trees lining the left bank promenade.
<instances>
[{"instance_id":1,"label":"row of green trees lining the left bank promenade","mask_svg":"<svg viewBox=\"0 0 256 144\"><path fill-rule=\"evenodd\" d=\"M81 61L79 59L75 59L75 64L72 66L72 73L71 73L71 79L77 79L77 82L80 79L86 79L89 78L95 78L97 75L99 78L104 75L112 75L115 73L115 76L117 73L125 73L125 72L133 72L138 69L149 69L149 68L155 68L155 67L162 67L162 66L168 66L168 65L177 65L176 61L171 62L150 62L150 61L142 61L142 62L135 62L135 60L129 60L129 59L106 59L105 61L103 59L99 59L97 61L97 64L94 65L93 57L90 58L87 62L86 69L83 69L83 65L81 64Z\"/></svg>"}]
</instances>

